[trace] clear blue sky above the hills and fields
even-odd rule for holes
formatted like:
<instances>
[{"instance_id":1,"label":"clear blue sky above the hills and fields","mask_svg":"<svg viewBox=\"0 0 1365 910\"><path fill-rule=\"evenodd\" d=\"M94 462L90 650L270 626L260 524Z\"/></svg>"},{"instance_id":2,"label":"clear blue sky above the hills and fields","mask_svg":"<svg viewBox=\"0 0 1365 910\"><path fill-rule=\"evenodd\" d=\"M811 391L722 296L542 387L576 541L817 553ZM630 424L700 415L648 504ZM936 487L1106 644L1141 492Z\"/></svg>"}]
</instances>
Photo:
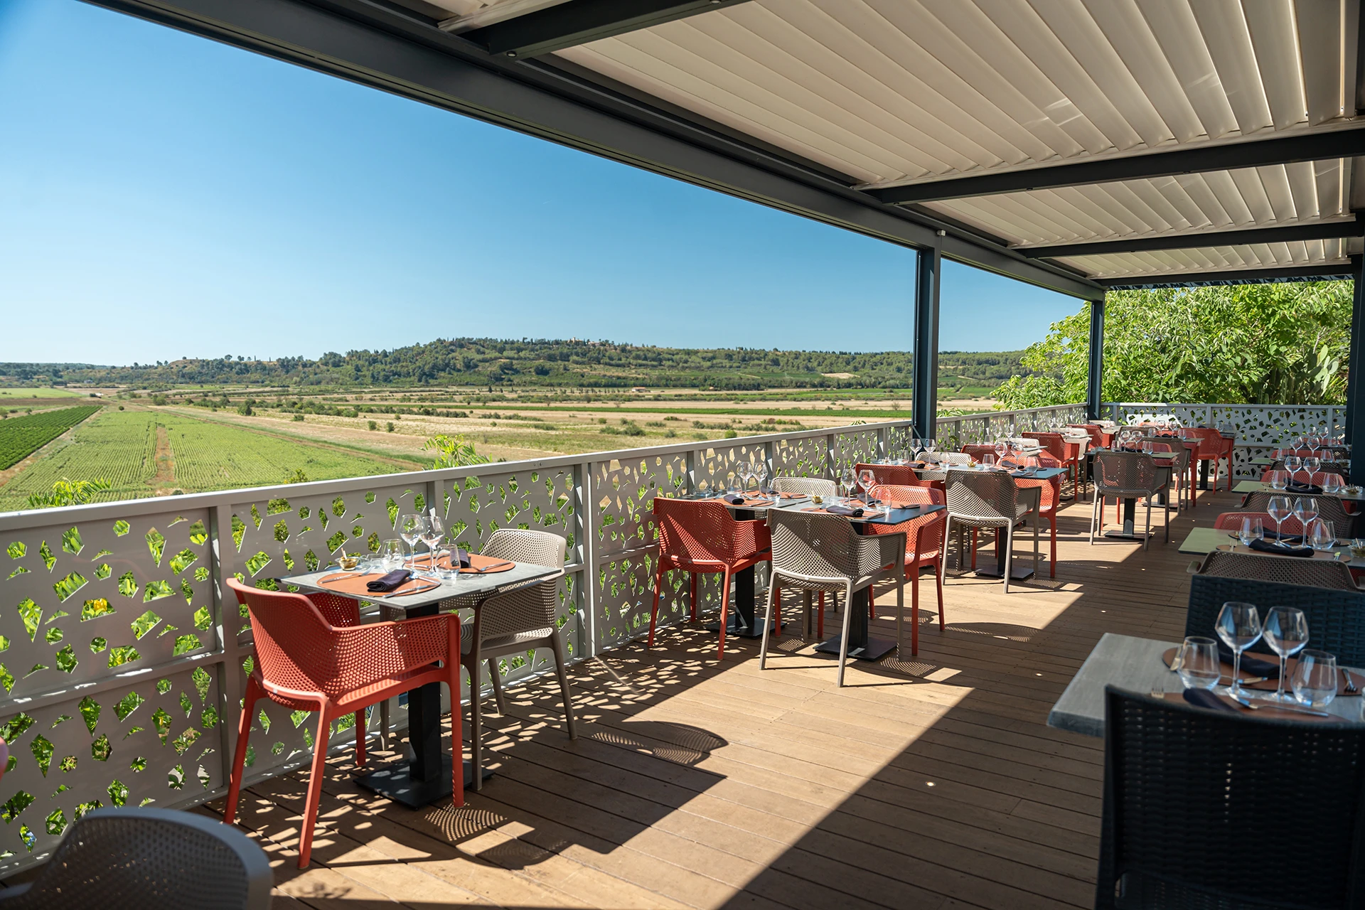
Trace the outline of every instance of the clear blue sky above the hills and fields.
<instances>
[{"instance_id":1,"label":"clear blue sky above the hills and fields","mask_svg":"<svg viewBox=\"0 0 1365 910\"><path fill-rule=\"evenodd\" d=\"M0 0L0 360L909 349L913 252L76 0ZM940 348L1080 302L949 263Z\"/></svg>"}]
</instances>

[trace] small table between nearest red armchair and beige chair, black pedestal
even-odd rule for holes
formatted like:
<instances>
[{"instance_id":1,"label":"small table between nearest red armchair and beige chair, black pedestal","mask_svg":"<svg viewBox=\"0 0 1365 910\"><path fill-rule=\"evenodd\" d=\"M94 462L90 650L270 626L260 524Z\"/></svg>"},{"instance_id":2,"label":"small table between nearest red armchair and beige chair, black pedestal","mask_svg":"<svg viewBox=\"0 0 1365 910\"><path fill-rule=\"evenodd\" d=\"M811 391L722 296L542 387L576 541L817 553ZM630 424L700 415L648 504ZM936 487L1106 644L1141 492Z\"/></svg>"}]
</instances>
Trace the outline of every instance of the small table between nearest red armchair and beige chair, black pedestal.
<instances>
[{"instance_id":1,"label":"small table between nearest red armchair and beige chair, black pedestal","mask_svg":"<svg viewBox=\"0 0 1365 910\"><path fill-rule=\"evenodd\" d=\"M319 572L280 578L281 583L295 585L303 591L322 591L328 593L341 593L354 596L358 600L378 603L385 607L389 615L401 613L404 619L429 617L440 613L441 603L453 598L460 598L461 606L472 606L479 610L489 598L513 588L535 584L545 578L554 577L560 569L538 566L526 562L513 563L505 570L464 570L453 580L435 580L435 584L416 585L420 589L414 593L403 593L403 589L385 593L356 593L358 580L382 574L379 572L364 573L360 570L344 572L337 566L330 566ZM341 576L337 581L328 581ZM460 693L450 693L459 699ZM411 809L420 809L438 799L450 795L450 767L453 756L441 749L441 684L430 682L418 686L408 693L408 744L412 748L412 757L399 761L370 774L355 778L366 790L385 795L394 802L400 802ZM483 776L493 772L485 769ZM464 763L464 786L474 784L474 765Z\"/></svg>"}]
</instances>

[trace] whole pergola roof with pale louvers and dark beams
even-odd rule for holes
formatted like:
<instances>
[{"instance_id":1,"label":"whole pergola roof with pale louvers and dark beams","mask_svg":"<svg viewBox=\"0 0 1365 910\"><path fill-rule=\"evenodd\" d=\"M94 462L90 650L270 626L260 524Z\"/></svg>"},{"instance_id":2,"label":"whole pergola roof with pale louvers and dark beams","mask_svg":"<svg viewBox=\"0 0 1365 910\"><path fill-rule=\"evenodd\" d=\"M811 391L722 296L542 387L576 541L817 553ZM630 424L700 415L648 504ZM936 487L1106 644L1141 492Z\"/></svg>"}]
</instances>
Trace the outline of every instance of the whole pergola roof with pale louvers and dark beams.
<instances>
[{"instance_id":1,"label":"whole pergola roof with pale louvers and dark beams","mask_svg":"<svg viewBox=\"0 0 1365 910\"><path fill-rule=\"evenodd\" d=\"M1078 296L1346 274L1361 252L1358 0L100 1ZM355 41L300 41L300 12L829 205L506 94L452 104Z\"/></svg>"}]
</instances>

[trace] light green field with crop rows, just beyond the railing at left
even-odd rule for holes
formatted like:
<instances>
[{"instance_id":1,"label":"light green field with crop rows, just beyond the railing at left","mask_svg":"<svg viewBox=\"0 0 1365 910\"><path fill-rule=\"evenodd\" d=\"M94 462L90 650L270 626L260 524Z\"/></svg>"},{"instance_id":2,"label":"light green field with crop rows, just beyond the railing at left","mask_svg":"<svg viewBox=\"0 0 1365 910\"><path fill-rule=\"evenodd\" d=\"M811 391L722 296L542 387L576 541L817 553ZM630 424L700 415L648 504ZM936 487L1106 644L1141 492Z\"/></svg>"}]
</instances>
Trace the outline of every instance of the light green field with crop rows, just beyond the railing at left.
<instances>
[{"instance_id":1,"label":"light green field with crop rows, just beyond the railing at left","mask_svg":"<svg viewBox=\"0 0 1365 910\"><path fill-rule=\"evenodd\" d=\"M296 471L332 480L401 471L377 458L292 442L192 417L149 411L106 411L76 428L72 441L0 487L0 512L26 508L61 478L102 478L97 502L175 490L203 493L284 483Z\"/></svg>"}]
</instances>

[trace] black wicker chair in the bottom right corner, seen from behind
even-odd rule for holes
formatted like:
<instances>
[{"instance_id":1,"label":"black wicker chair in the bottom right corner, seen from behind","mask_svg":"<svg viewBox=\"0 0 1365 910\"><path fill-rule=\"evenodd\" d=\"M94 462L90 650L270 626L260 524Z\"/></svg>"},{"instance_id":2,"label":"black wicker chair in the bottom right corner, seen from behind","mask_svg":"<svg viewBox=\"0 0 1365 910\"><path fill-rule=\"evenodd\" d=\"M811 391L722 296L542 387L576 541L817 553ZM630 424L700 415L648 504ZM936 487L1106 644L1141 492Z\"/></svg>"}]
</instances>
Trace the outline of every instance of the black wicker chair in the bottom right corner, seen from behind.
<instances>
[{"instance_id":1,"label":"black wicker chair in the bottom right corner, seen from behind","mask_svg":"<svg viewBox=\"0 0 1365 910\"><path fill-rule=\"evenodd\" d=\"M1106 686L1096 907L1361 907L1362 820L1365 726L1263 720ZM1290 846L1299 821L1310 847ZM1253 849L1257 832L1274 846Z\"/></svg>"}]
</instances>

